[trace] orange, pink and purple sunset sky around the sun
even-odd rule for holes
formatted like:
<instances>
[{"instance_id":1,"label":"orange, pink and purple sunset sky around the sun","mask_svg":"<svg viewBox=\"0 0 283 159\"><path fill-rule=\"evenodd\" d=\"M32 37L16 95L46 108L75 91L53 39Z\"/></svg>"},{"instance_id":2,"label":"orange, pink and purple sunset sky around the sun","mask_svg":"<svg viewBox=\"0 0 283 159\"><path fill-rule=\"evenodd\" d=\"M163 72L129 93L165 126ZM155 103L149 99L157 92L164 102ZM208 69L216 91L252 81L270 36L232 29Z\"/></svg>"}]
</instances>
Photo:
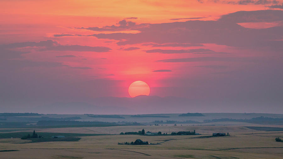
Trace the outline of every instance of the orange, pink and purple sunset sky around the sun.
<instances>
[{"instance_id":1,"label":"orange, pink and purple sunset sky around the sun","mask_svg":"<svg viewBox=\"0 0 283 159\"><path fill-rule=\"evenodd\" d=\"M1 112L283 113L282 0L2 0L0 16Z\"/></svg>"}]
</instances>

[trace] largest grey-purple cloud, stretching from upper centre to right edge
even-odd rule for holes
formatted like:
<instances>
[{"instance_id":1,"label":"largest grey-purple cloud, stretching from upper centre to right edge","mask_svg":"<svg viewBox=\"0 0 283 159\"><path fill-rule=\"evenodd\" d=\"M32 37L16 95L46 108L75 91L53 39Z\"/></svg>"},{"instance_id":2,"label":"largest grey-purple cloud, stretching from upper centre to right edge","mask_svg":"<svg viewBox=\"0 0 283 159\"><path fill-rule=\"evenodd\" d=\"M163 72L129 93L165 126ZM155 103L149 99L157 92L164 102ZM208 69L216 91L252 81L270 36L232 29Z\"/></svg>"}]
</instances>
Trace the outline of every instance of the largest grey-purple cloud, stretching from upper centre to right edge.
<instances>
[{"instance_id":1,"label":"largest grey-purple cloud, stretching from upper centre to right edge","mask_svg":"<svg viewBox=\"0 0 283 159\"><path fill-rule=\"evenodd\" d=\"M223 15L219 20L189 20L159 24L139 24L128 28L139 33L100 33L98 39L118 40L118 45L132 44L205 44L214 43L231 47L282 48L283 27L263 29L245 28L237 23L282 21L281 10L240 11ZM78 36L78 35L72 35Z\"/></svg>"}]
</instances>

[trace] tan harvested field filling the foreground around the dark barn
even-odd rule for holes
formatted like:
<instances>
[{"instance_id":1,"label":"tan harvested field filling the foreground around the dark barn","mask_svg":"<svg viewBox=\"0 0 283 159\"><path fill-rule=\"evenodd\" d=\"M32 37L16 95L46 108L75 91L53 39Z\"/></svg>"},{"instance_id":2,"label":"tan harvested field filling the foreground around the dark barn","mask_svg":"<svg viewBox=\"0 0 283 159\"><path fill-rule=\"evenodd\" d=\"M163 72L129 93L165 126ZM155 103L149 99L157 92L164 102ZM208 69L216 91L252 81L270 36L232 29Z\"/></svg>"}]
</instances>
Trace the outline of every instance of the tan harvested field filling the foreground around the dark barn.
<instances>
[{"instance_id":1,"label":"tan harvested field filling the foreground around the dark barn","mask_svg":"<svg viewBox=\"0 0 283 159\"><path fill-rule=\"evenodd\" d=\"M153 127L153 126L152 126ZM144 126L149 129L150 126ZM226 132L232 136L198 138L205 135L143 136L102 135L83 136L79 141L23 143L20 139L0 139L1 158L282 158L281 131L258 131L240 126L172 126L171 129L207 129ZM65 131L71 128L60 128ZM60 130L59 128L53 130ZM74 129L74 128L72 128ZM96 129L96 128L90 128ZM104 128L108 129L108 127ZM120 131L120 127L112 127ZM118 130L115 130L118 129ZM141 129L128 126L124 129ZM161 128L160 128L161 129ZM196 130L197 130L196 129ZM51 130L51 129L48 129ZM165 128L164 128L165 130ZM42 129L43 131L43 129ZM101 130L102 131L102 130ZM103 130L106 131L106 130ZM174 130L175 131L175 130ZM118 145L136 139L156 145ZM29 140L26 140L26 142ZM22 143L21 143L22 142ZM15 144L16 143L16 144ZM18 151L10 151L18 150Z\"/></svg>"}]
</instances>

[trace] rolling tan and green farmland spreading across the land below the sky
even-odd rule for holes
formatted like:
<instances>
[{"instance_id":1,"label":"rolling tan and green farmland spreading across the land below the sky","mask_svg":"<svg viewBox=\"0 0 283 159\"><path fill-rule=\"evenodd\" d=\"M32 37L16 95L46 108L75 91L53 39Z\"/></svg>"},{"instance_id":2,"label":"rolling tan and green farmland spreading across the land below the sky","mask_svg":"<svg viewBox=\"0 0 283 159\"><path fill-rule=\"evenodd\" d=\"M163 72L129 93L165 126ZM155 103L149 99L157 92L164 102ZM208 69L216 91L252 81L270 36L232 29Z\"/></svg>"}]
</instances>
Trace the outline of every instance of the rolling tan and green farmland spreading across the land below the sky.
<instances>
[{"instance_id":1,"label":"rolling tan and green farmland spreading across the land below the sky","mask_svg":"<svg viewBox=\"0 0 283 159\"><path fill-rule=\"evenodd\" d=\"M178 114L166 114L170 118L191 120L191 118L209 117L178 117ZM249 115L249 114L248 114ZM73 115L74 116L74 115ZM76 115L77 116L77 115ZM135 118L120 115L125 122L144 120L146 117ZM154 116L154 115L150 115ZM162 115L164 116L164 114ZM237 116L237 114L236 114ZM236 116L234 116L236 118ZM268 115L281 117L280 115ZM54 118L69 118L71 115L54 115ZM103 116L106 117L106 116ZM225 117L225 114L218 118ZM246 117L243 115L242 119ZM257 115L252 114L250 118ZM24 117L23 117L24 118ZM30 118L30 117L29 117ZM53 118L53 117L50 117ZM81 115L80 118L93 118ZM153 117L149 117L153 118ZM153 120L160 120L160 117ZM100 118L97 118L100 120ZM108 119L108 118L105 118ZM174 119L174 120L175 120ZM238 119L241 119L240 116ZM78 119L77 121L80 121ZM101 119L102 120L102 119ZM113 118L109 118L113 120ZM147 119L148 120L148 119ZM103 121L103 120L102 120ZM201 122L201 120L198 120ZM275 138L283 138L283 125L267 125L238 121L215 122L211 125L202 124L158 124L136 126L93 126L84 127L39 127L29 129L0 129L1 158L281 158L283 142ZM167 133L168 135L118 135L120 132ZM32 134L33 130L43 138L21 140L20 137ZM170 135L171 132L193 131L201 135ZM229 132L230 136L208 137L212 133ZM52 139L51 136L62 135L64 139ZM11 138L12 137L12 138ZM131 142L136 139L147 141L152 145L118 145L118 142Z\"/></svg>"}]
</instances>

